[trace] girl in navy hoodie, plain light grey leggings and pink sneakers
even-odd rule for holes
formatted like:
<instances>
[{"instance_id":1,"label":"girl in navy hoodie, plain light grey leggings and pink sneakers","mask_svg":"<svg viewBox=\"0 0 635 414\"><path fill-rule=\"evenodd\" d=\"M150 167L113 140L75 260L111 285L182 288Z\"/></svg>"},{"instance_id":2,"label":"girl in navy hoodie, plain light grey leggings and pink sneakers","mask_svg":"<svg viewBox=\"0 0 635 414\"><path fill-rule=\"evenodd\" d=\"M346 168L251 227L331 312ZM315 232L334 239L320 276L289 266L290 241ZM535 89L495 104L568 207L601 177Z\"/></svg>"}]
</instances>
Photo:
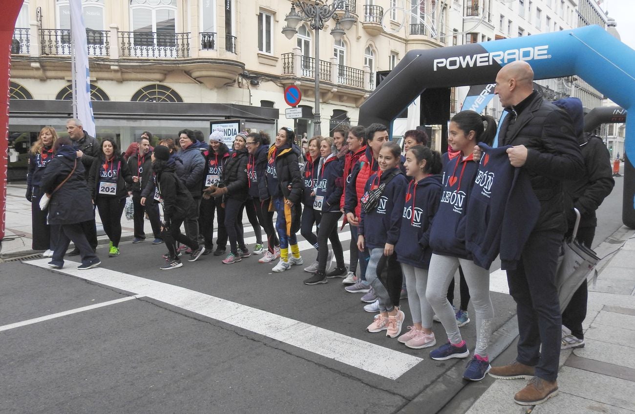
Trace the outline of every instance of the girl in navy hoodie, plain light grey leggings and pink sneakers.
<instances>
[{"instance_id":1,"label":"girl in navy hoodie, plain light grey leggings and pink sneakers","mask_svg":"<svg viewBox=\"0 0 635 414\"><path fill-rule=\"evenodd\" d=\"M434 311L425 298L432 248L430 229L441 197L441 154L415 145L406 151L406 175L412 177L401 215L401 231L395 246L397 260L408 289L408 305L413 326L398 341L406 347L421 349L436 344L432 332ZM415 243L417 241L417 243Z\"/></svg>"}]
</instances>

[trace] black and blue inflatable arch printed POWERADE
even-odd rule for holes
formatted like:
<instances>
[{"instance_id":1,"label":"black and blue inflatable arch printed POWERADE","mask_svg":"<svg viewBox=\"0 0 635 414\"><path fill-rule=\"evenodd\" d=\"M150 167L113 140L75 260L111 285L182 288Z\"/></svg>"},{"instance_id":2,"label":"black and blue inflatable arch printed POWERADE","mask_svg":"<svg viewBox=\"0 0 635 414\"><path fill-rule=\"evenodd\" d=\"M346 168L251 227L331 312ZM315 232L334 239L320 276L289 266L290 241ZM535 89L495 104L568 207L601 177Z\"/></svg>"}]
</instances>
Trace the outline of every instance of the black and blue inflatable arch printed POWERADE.
<instances>
[{"instance_id":1,"label":"black and blue inflatable arch printed POWERADE","mask_svg":"<svg viewBox=\"0 0 635 414\"><path fill-rule=\"evenodd\" d=\"M501 67L530 63L535 79L576 75L625 110L635 110L635 51L601 27L413 50L361 106L359 123L392 121L426 88L493 83ZM622 222L635 229L635 122L626 121Z\"/></svg>"}]
</instances>

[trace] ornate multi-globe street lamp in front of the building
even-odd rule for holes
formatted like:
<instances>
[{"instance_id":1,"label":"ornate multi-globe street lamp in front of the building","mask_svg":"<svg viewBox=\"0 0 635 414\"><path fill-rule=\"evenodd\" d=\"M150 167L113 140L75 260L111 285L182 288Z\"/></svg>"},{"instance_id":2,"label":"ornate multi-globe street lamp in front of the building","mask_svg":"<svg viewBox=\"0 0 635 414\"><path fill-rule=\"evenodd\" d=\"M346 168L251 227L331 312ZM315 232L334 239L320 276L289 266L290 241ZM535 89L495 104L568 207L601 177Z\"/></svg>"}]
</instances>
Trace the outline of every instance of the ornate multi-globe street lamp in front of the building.
<instances>
[{"instance_id":1,"label":"ornate multi-globe street lamp in front of the building","mask_svg":"<svg viewBox=\"0 0 635 414\"><path fill-rule=\"evenodd\" d=\"M335 10L341 9L344 5L344 16L339 17L335 14ZM296 8L300 10L296 11ZM335 27L331 29L331 35L336 41L342 39L344 36L344 30L351 29L353 23L357 22L357 19L351 15L349 11L349 3L346 0L334 0L333 3L328 4L328 1L323 0L297 0L295 3L291 3L291 10L289 14L284 18L287 25L283 27L282 32L287 39L291 39L298 30L296 27L302 21L311 22L311 29L315 30L315 44L316 44L316 57L313 67L315 75L315 111L313 121L313 134L321 135L322 131L320 124L322 123L319 114L319 31L324 29L324 23L328 22L330 18L335 20Z\"/></svg>"}]
</instances>

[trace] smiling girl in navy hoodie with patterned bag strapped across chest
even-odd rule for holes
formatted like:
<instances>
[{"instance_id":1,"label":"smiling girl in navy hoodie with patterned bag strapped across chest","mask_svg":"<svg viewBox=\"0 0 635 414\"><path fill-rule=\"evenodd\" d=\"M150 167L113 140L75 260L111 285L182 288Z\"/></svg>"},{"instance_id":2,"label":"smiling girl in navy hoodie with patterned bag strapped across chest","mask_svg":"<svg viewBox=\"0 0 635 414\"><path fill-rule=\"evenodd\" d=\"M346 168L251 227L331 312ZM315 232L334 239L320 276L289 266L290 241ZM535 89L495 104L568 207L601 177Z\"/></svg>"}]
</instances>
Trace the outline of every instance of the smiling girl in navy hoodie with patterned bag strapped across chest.
<instances>
[{"instance_id":1,"label":"smiling girl in navy hoodie with patterned bag strapped across chest","mask_svg":"<svg viewBox=\"0 0 635 414\"><path fill-rule=\"evenodd\" d=\"M404 314L392 304L386 286L380 281L380 269L386 264L398 266L394 254L394 245L399 238L401 213L408 180L399 170L401 147L394 142L385 142L377 157L379 170L368 178L364 187L361 204L368 200L371 190L377 189L385 183L384 192L378 200L377 206L365 211L361 209L359 217L358 249L370 250L370 260L366 268L366 281L370 283L379 300L379 315L368 328L369 332L387 331L387 337L397 337L401 332ZM392 281L387 280L387 284ZM401 281L399 281L401 287Z\"/></svg>"}]
</instances>

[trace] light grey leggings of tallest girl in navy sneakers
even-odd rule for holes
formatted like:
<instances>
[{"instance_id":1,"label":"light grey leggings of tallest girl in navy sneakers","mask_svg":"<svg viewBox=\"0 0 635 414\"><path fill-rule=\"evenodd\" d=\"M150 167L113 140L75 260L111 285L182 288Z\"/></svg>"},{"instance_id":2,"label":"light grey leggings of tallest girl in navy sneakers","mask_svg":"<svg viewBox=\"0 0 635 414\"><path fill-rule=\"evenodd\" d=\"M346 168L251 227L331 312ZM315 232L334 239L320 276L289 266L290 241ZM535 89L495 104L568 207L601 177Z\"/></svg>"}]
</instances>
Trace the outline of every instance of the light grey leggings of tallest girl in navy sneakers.
<instances>
[{"instance_id":1,"label":"light grey leggings of tallest girl in navy sneakers","mask_svg":"<svg viewBox=\"0 0 635 414\"><path fill-rule=\"evenodd\" d=\"M448 286L460 265L465 274L465 281L472 296L472 304L476 312L476 347L474 354L487 356L487 345L490 341L494 309L490 299L490 271L478 267L472 260L466 260L451 256L432 254L428 285L425 291L432 309L436 312L448 340L452 344L462 342L461 333L458 330L457 319L452 305L448 302ZM410 297L410 293L408 293Z\"/></svg>"}]
</instances>

